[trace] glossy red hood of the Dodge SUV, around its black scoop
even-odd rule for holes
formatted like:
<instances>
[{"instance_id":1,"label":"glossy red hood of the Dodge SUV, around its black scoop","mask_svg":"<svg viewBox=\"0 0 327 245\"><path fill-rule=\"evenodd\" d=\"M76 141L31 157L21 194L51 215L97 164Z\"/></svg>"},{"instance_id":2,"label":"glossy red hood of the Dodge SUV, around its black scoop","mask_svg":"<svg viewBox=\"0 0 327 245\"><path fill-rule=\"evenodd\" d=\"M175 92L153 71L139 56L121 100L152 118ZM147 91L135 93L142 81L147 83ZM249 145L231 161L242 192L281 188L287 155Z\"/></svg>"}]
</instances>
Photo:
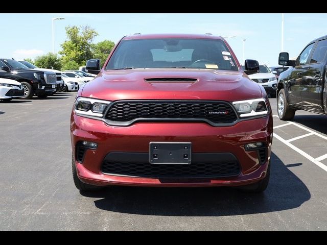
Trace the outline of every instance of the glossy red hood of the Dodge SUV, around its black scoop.
<instances>
[{"instance_id":1,"label":"glossy red hood of the Dodge SUV, around its black scoop","mask_svg":"<svg viewBox=\"0 0 327 245\"><path fill-rule=\"evenodd\" d=\"M153 78L196 81L146 81ZM262 97L258 84L240 71L133 69L102 71L79 95L103 100L223 100Z\"/></svg>"}]
</instances>

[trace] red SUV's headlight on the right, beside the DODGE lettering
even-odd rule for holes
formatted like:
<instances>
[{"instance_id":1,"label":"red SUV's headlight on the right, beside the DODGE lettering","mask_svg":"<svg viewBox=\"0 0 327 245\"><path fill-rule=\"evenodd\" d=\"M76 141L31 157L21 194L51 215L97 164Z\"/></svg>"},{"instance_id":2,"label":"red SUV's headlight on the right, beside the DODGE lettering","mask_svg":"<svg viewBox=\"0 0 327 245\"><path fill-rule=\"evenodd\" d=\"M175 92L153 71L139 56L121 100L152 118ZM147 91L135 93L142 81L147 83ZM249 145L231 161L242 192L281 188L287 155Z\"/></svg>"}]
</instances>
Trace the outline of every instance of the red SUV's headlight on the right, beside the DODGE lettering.
<instances>
[{"instance_id":1,"label":"red SUV's headlight on the right, beside the DODGE lettering","mask_svg":"<svg viewBox=\"0 0 327 245\"><path fill-rule=\"evenodd\" d=\"M264 98L248 101L236 101L233 102L233 106L239 113L240 117L268 114L268 107Z\"/></svg>"}]
</instances>

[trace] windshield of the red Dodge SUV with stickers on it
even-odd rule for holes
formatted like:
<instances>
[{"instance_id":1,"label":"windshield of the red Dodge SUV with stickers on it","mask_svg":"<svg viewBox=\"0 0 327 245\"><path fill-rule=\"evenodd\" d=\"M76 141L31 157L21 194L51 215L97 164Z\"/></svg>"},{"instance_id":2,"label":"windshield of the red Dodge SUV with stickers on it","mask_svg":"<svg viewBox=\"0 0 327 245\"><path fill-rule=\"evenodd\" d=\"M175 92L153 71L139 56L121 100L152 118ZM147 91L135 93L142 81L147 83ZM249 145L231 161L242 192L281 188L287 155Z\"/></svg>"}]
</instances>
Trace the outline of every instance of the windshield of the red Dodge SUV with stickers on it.
<instances>
[{"instance_id":1,"label":"windshield of the red Dodge SUV with stickers on it","mask_svg":"<svg viewBox=\"0 0 327 245\"><path fill-rule=\"evenodd\" d=\"M222 40L195 38L123 40L106 70L133 68L238 70Z\"/></svg>"}]
</instances>

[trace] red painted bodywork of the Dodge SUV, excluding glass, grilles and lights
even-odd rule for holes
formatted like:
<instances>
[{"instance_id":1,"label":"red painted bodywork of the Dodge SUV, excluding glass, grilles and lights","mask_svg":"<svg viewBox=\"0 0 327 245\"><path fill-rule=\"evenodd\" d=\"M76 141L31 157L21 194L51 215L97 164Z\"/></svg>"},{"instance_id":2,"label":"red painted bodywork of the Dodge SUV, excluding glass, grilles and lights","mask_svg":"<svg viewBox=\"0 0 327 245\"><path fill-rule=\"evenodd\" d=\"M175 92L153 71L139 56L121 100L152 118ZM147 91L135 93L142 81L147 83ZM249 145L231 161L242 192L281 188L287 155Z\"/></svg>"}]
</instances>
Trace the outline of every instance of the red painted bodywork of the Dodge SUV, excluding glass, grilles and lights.
<instances>
[{"instance_id":1,"label":"red painted bodywork of the Dodge SUV, excluding glass, grilles and lights","mask_svg":"<svg viewBox=\"0 0 327 245\"><path fill-rule=\"evenodd\" d=\"M133 35L127 39L149 38L206 38L210 35L160 34ZM226 42L225 42L226 43ZM116 44L116 46L119 45ZM130 69L105 70L111 52L99 75L78 91L77 96L117 100L220 100L242 101L266 98L265 90L243 72L235 54L239 71L214 69ZM195 78L194 82L148 82L147 78ZM267 99L268 107L270 108ZM239 121L229 127L213 127L204 122L136 122L128 127L113 127L96 119L78 116L72 111L71 139L75 156L78 141L98 143L97 150L87 150L83 164L75 162L78 177L84 183L137 186L238 186L258 182L266 175L272 141L272 113L265 117ZM150 141L192 142L193 153L232 153L241 165L237 177L179 180L161 182L160 179L105 175L101 172L104 157L110 152L148 153ZM267 144L267 161L261 165L256 152L248 152L244 144L263 141ZM150 164L150 163L149 163ZM191 163L192 164L192 163Z\"/></svg>"}]
</instances>

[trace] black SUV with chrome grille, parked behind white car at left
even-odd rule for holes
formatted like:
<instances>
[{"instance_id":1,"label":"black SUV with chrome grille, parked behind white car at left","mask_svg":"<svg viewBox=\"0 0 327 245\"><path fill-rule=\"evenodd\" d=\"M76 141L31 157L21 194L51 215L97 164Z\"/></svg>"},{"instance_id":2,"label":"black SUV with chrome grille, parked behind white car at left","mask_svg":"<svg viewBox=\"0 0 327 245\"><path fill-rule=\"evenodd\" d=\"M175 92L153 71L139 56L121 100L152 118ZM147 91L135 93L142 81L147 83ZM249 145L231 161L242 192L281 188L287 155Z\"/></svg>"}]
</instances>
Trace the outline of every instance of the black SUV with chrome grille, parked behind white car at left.
<instances>
[{"instance_id":1,"label":"black SUV with chrome grille, parked behind white car at left","mask_svg":"<svg viewBox=\"0 0 327 245\"><path fill-rule=\"evenodd\" d=\"M31 99L33 95L45 98L56 92L56 74L31 70L26 65L13 59L0 59L0 78L13 79L21 83L24 88L24 97Z\"/></svg>"}]
</instances>

